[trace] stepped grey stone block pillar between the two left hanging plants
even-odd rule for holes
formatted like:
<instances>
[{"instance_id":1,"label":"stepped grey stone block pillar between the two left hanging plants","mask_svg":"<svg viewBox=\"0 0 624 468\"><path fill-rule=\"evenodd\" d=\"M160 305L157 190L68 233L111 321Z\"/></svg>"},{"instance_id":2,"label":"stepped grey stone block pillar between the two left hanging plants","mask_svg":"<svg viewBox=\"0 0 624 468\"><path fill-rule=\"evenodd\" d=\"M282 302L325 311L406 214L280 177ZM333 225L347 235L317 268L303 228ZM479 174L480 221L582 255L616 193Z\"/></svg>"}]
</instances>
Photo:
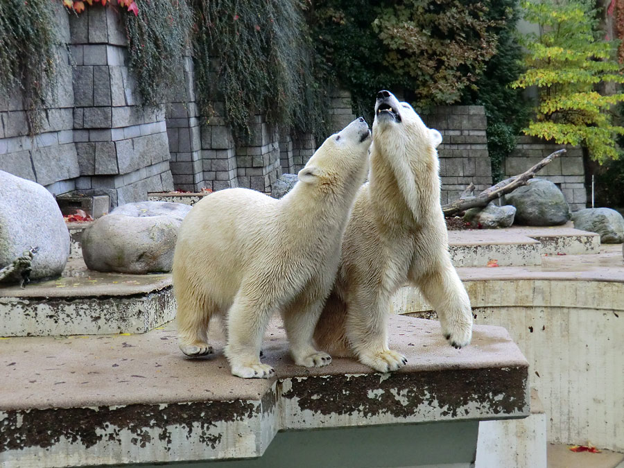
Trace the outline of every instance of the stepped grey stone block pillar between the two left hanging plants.
<instances>
[{"instance_id":1,"label":"stepped grey stone block pillar between the two left hanging plants","mask_svg":"<svg viewBox=\"0 0 624 468\"><path fill-rule=\"evenodd\" d=\"M112 207L173 189L164 107L142 107L128 69L119 12L93 5L70 15L76 190Z\"/></svg>"}]
</instances>

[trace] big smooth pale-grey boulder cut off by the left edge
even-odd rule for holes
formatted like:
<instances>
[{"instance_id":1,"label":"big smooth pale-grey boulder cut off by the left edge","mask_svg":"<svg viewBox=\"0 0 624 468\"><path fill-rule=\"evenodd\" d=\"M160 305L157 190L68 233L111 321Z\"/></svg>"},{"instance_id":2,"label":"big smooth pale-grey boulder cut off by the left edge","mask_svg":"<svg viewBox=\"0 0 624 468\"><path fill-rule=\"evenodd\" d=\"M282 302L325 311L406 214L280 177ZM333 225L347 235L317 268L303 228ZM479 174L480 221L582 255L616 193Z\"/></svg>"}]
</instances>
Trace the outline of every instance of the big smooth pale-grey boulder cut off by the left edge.
<instances>
[{"instance_id":1,"label":"big smooth pale-grey boulder cut off by the left edge","mask_svg":"<svg viewBox=\"0 0 624 468\"><path fill-rule=\"evenodd\" d=\"M0 268L31 247L31 279L60 275L69 257L63 215L42 185L0 171Z\"/></svg>"}]
</instances>

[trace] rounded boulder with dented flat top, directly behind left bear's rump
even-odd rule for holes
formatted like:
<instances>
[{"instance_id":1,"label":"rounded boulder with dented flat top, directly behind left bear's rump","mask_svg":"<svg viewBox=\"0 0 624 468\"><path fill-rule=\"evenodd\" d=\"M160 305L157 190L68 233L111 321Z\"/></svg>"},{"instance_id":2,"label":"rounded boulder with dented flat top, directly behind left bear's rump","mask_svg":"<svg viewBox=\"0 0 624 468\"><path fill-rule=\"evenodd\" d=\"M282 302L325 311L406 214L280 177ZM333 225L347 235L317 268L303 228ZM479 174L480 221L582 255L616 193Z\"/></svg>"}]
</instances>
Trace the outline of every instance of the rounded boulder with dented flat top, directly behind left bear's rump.
<instances>
[{"instance_id":1,"label":"rounded boulder with dented flat top, directly behind left bear's rump","mask_svg":"<svg viewBox=\"0 0 624 468\"><path fill-rule=\"evenodd\" d=\"M146 274L171 271L177 230L191 206L170 202L121 205L85 229L90 270Z\"/></svg>"}]
</instances>

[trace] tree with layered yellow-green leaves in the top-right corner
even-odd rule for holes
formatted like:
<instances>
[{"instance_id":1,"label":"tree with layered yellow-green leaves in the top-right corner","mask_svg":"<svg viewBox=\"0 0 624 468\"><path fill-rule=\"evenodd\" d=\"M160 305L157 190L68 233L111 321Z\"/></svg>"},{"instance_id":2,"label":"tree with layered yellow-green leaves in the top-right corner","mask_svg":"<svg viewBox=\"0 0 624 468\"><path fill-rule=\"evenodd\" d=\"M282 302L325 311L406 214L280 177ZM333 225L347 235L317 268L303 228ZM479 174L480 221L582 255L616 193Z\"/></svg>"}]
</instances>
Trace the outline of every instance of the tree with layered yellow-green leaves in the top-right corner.
<instances>
[{"instance_id":1,"label":"tree with layered yellow-green leaves in the top-right corner","mask_svg":"<svg viewBox=\"0 0 624 468\"><path fill-rule=\"evenodd\" d=\"M540 29L540 35L524 38L527 71L512 83L536 86L539 92L536 119L523 132L581 145L600 163L617 159L616 136L624 135L624 127L614 125L610 110L624 101L624 94L603 96L596 89L624 83L624 76L613 60L616 44L599 37L592 3L525 1L523 8L525 19Z\"/></svg>"}]
</instances>

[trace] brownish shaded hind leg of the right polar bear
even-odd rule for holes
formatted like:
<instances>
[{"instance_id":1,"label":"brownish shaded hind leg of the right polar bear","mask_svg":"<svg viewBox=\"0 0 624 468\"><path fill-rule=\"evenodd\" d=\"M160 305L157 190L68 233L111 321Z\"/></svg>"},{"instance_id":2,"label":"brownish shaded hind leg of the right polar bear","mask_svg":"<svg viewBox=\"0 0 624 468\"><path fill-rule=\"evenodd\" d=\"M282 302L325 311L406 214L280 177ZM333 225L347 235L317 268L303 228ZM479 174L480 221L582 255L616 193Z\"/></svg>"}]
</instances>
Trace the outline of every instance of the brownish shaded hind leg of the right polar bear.
<instances>
[{"instance_id":1,"label":"brownish shaded hind leg of the right polar bear","mask_svg":"<svg viewBox=\"0 0 624 468\"><path fill-rule=\"evenodd\" d=\"M353 356L347 341L346 322L347 304L334 289L327 297L314 329L314 340L318 347L333 357Z\"/></svg>"}]
</instances>

